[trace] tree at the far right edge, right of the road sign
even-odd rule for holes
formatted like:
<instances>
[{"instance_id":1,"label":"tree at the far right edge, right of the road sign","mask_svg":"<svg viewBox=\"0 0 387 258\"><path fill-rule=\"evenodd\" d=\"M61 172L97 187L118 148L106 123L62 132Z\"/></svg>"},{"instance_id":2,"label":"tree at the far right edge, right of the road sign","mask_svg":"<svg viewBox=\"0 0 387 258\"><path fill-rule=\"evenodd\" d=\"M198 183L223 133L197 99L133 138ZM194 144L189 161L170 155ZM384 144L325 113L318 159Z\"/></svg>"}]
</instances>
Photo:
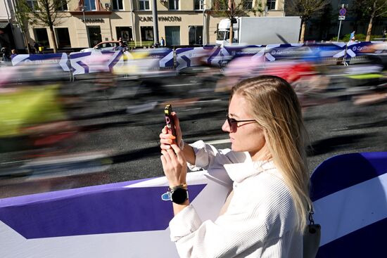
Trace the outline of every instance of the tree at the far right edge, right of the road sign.
<instances>
[{"instance_id":1,"label":"tree at the far right edge, right of the road sign","mask_svg":"<svg viewBox=\"0 0 387 258\"><path fill-rule=\"evenodd\" d=\"M387 15L386 0L355 0L355 9L361 11L363 17L368 17L368 29L365 41L370 41L372 25L375 18Z\"/></svg>"}]
</instances>

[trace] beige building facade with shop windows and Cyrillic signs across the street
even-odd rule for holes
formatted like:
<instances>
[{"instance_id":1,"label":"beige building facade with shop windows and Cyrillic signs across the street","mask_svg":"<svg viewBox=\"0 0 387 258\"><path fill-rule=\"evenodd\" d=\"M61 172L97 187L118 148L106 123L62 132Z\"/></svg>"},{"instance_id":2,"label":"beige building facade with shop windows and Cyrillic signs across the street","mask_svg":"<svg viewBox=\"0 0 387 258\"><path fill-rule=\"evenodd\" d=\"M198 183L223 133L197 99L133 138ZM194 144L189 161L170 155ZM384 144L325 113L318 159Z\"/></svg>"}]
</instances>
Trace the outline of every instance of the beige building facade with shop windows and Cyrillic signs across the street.
<instances>
[{"instance_id":1,"label":"beige building facade with shop windows and Cyrillic signs across the street","mask_svg":"<svg viewBox=\"0 0 387 258\"><path fill-rule=\"evenodd\" d=\"M37 0L27 0L32 6ZM220 17L211 10L219 0L156 0L158 35L167 46L215 44ZM251 6L261 0L251 0ZM265 13L284 15L284 0L263 0ZM101 41L123 39L136 46L153 44L152 0L70 0L54 27L58 48L83 48ZM30 41L53 48L47 27L30 26Z\"/></svg>"}]
</instances>

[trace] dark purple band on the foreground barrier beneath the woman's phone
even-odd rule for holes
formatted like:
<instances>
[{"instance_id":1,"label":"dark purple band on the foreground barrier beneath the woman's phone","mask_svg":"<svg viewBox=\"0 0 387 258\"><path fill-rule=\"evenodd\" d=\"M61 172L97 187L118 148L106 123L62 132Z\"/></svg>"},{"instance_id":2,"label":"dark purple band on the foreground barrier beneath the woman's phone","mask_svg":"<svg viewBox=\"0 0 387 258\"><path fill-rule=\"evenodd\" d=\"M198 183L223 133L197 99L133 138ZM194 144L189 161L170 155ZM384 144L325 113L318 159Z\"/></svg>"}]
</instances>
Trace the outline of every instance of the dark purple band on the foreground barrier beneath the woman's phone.
<instances>
[{"instance_id":1,"label":"dark purple band on the foreground barrier beneath the woman's phone","mask_svg":"<svg viewBox=\"0 0 387 258\"><path fill-rule=\"evenodd\" d=\"M93 186L82 192L59 191L50 198L34 195L0 200L0 220L27 239L101 233L165 230L173 217L172 203L161 200L166 186L125 188L124 183ZM128 182L126 182L128 185ZM194 200L205 184L191 185ZM94 189L94 191L92 190ZM11 199L11 198L9 198ZM8 206L12 201L13 205Z\"/></svg>"}]
</instances>

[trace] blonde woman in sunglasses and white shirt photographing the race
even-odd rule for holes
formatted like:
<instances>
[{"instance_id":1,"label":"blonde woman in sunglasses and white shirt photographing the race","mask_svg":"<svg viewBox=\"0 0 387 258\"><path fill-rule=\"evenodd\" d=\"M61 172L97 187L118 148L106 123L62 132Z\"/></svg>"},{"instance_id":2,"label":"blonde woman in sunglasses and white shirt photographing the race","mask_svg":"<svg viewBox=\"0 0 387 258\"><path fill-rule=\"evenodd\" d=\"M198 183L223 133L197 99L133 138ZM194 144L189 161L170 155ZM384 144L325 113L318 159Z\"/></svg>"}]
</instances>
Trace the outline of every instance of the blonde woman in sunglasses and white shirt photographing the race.
<instances>
[{"instance_id":1,"label":"blonde woman in sunglasses and white shirt photographing the race","mask_svg":"<svg viewBox=\"0 0 387 258\"><path fill-rule=\"evenodd\" d=\"M160 147L175 193L170 231L180 257L303 257L311 205L306 132L288 82L260 76L234 86L222 126L231 150L203 141L184 145L176 114L175 123L177 139L172 143L174 137L164 128ZM215 221L201 221L186 198L186 162L191 169L224 167L234 181Z\"/></svg>"}]
</instances>

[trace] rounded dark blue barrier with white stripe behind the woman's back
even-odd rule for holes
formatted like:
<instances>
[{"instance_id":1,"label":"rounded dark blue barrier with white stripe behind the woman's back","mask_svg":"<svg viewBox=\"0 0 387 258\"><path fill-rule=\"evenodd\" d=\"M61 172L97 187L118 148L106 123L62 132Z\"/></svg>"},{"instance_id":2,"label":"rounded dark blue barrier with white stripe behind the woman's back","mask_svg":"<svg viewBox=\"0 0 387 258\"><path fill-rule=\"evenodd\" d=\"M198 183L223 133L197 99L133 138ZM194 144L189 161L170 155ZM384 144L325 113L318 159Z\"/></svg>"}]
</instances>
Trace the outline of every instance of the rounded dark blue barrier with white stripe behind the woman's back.
<instances>
[{"instance_id":1,"label":"rounded dark blue barrier with white stripe behind the woman's back","mask_svg":"<svg viewBox=\"0 0 387 258\"><path fill-rule=\"evenodd\" d=\"M387 153L350 153L315 169L310 194L315 223L322 227L317 258L381 257L386 252L386 168Z\"/></svg>"}]
</instances>

